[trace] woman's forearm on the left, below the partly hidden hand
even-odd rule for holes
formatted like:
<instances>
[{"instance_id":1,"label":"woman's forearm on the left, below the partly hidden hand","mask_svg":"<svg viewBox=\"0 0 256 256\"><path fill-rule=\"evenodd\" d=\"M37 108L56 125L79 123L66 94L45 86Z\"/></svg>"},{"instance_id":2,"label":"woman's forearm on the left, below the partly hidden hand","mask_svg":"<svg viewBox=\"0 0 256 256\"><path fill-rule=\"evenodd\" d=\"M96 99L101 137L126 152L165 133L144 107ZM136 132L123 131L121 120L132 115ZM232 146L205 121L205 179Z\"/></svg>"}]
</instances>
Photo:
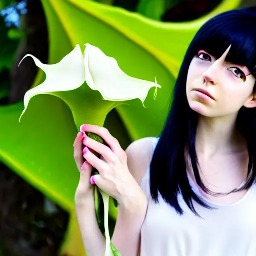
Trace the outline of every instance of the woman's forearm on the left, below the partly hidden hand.
<instances>
[{"instance_id":1,"label":"woman's forearm on the left, below the partly hidden hand","mask_svg":"<svg viewBox=\"0 0 256 256\"><path fill-rule=\"evenodd\" d=\"M76 204L75 210L86 255L104 256L105 237L97 224L94 197Z\"/></svg>"}]
</instances>

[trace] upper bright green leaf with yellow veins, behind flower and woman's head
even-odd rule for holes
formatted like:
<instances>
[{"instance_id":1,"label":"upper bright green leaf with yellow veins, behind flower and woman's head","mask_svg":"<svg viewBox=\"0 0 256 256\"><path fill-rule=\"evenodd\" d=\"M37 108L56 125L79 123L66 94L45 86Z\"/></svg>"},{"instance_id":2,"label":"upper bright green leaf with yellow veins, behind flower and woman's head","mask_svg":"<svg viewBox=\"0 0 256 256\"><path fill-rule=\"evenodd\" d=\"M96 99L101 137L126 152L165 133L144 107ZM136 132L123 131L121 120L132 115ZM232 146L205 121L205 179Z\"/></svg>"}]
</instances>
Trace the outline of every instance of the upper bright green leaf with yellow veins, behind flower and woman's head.
<instances>
[{"instance_id":1,"label":"upper bright green leaf with yellow veins, behind flower and woman's head","mask_svg":"<svg viewBox=\"0 0 256 256\"><path fill-rule=\"evenodd\" d=\"M130 106L117 108L134 140L159 134L166 119L182 58L199 27L209 17L237 7L240 0L224 0L206 17L179 24L157 22L140 14L93 1L42 2L50 28L49 63L59 61L77 43L90 43L102 49L106 55L114 57L128 75L150 81L156 76L162 85L155 100L151 90L145 102L146 109L138 100L130 101ZM71 47L67 48L67 44Z\"/></svg>"}]
</instances>

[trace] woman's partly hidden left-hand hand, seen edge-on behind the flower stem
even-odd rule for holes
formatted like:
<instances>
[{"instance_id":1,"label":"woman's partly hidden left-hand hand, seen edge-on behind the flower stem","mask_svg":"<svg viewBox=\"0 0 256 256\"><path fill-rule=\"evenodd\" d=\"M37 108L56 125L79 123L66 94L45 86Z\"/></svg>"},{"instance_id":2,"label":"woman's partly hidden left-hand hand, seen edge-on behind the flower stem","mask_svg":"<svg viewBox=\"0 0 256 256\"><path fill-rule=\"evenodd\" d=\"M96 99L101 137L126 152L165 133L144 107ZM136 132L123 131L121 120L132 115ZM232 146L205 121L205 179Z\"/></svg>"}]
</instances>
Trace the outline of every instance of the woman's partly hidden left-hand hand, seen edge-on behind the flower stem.
<instances>
[{"instance_id":1,"label":"woman's partly hidden left-hand hand, seen edge-on behind the flower stem","mask_svg":"<svg viewBox=\"0 0 256 256\"><path fill-rule=\"evenodd\" d=\"M94 187L90 184L90 176L92 171L92 166L84 161L83 158L83 133L79 132L75 138L74 147L74 159L78 170L80 171L80 180L75 192L75 204L84 205L94 204Z\"/></svg>"}]
</instances>

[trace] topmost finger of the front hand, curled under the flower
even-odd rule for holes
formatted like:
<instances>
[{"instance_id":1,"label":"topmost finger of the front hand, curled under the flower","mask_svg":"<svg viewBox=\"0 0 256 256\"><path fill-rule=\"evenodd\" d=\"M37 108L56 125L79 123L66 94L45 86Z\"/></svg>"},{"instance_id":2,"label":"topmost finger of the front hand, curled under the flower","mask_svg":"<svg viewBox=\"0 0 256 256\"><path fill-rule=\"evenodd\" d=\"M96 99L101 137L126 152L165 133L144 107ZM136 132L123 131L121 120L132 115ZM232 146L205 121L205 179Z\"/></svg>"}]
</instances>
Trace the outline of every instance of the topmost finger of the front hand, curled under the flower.
<instances>
[{"instance_id":1,"label":"topmost finger of the front hand, curled under the flower","mask_svg":"<svg viewBox=\"0 0 256 256\"><path fill-rule=\"evenodd\" d=\"M106 129L105 127L92 124L83 124L80 127L80 131L93 132L99 135L109 145L114 154L116 154L117 156L121 156L123 149L121 148L118 140L115 137L113 137L108 131L108 129Z\"/></svg>"}]
</instances>

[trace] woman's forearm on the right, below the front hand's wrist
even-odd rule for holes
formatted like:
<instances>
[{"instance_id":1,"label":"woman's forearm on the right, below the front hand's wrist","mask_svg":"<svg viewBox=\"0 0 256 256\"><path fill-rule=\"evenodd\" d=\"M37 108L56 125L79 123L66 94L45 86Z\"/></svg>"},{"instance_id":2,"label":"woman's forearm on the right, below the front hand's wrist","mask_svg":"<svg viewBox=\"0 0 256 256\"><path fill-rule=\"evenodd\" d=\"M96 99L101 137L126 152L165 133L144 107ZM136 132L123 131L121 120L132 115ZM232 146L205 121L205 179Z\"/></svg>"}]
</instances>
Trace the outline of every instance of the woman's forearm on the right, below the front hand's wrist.
<instances>
[{"instance_id":1,"label":"woman's forearm on the right, below the front hand's wrist","mask_svg":"<svg viewBox=\"0 0 256 256\"><path fill-rule=\"evenodd\" d=\"M147 211L147 198L139 192L136 198L120 203L112 243L122 256L137 256L140 231ZM138 199L140 198L140 199Z\"/></svg>"}]
</instances>

